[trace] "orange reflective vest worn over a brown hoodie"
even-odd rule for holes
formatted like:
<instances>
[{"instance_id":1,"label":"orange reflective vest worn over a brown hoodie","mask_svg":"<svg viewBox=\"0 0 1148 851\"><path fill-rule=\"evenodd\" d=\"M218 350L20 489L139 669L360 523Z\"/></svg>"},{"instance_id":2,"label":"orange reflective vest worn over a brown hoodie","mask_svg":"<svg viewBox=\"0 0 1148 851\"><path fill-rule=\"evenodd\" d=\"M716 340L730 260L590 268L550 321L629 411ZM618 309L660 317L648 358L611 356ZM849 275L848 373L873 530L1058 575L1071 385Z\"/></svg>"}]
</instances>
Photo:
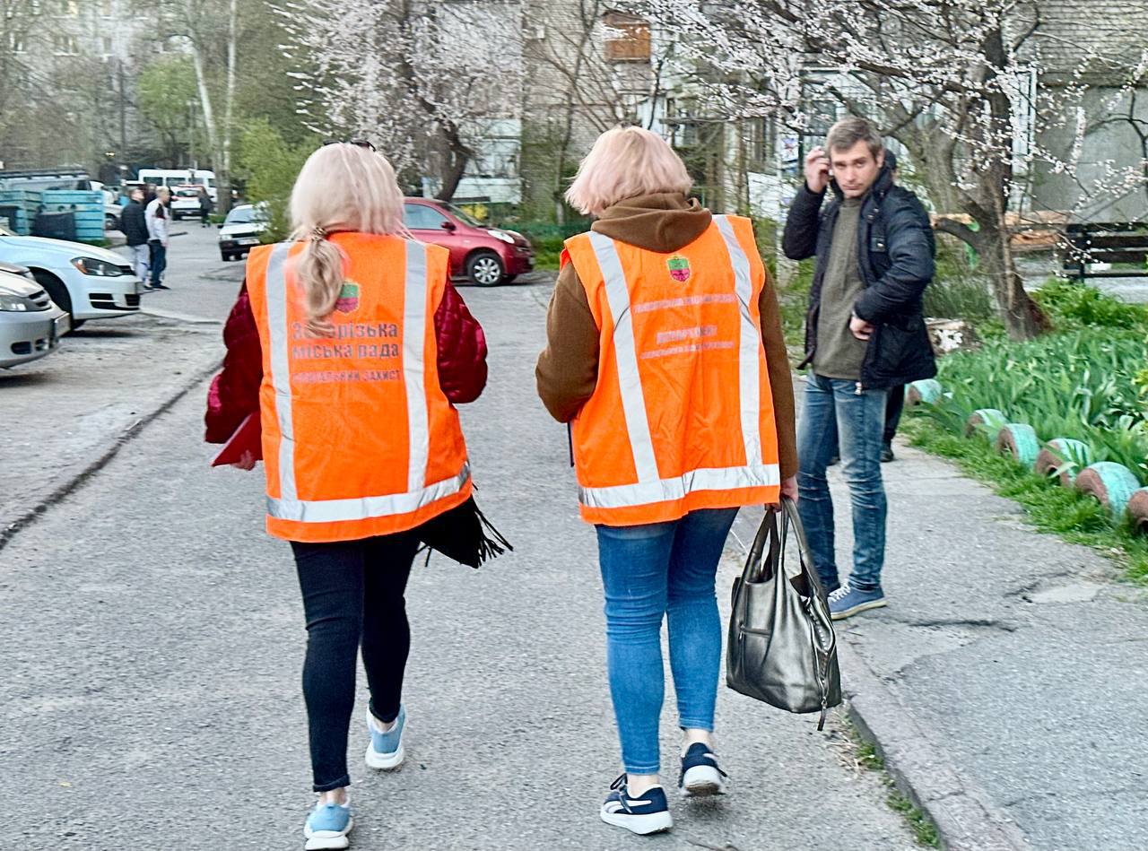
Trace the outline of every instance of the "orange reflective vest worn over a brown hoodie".
<instances>
[{"instance_id":1,"label":"orange reflective vest worn over a brown hoodie","mask_svg":"<svg viewBox=\"0 0 1148 851\"><path fill-rule=\"evenodd\" d=\"M672 254L592 231L566 252L600 331L598 384L573 424L582 518L631 526L777 502L750 221L714 216Z\"/></svg>"}]
</instances>

